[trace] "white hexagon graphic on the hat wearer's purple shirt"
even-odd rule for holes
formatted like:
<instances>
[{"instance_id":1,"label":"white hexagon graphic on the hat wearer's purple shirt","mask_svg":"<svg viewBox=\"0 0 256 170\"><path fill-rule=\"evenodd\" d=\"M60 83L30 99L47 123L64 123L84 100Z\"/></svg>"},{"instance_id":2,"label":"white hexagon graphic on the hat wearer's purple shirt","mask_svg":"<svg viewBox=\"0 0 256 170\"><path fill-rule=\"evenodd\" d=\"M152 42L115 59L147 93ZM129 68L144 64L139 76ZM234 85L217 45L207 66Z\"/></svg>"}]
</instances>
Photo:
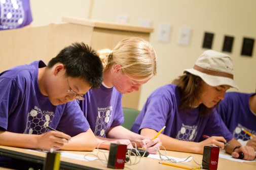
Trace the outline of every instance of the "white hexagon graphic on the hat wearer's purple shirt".
<instances>
[{"instance_id":1,"label":"white hexagon graphic on the hat wearer's purple shirt","mask_svg":"<svg viewBox=\"0 0 256 170\"><path fill-rule=\"evenodd\" d=\"M197 126L185 125L182 123L176 139L182 141L194 141L197 136Z\"/></svg>"}]
</instances>

